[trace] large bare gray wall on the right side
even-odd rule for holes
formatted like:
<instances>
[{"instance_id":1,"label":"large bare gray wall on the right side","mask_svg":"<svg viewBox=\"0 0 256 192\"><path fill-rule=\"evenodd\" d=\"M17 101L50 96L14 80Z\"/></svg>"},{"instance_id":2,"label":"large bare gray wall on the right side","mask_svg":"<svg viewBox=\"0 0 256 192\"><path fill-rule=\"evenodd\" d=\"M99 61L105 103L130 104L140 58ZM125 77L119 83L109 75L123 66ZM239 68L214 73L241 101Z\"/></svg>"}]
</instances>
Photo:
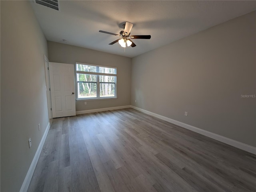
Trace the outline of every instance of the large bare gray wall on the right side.
<instances>
[{"instance_id":1,"label":"large bare gray wall on the right side","mask_svg":"<svg viewBox=\"0 0 256 192\"><path fill-rule=\"evenodd\" d=\"M134 57L131 105L255 147L256 98L241 98L256 94L255 18Z\"/></svg>"}]
</instances>

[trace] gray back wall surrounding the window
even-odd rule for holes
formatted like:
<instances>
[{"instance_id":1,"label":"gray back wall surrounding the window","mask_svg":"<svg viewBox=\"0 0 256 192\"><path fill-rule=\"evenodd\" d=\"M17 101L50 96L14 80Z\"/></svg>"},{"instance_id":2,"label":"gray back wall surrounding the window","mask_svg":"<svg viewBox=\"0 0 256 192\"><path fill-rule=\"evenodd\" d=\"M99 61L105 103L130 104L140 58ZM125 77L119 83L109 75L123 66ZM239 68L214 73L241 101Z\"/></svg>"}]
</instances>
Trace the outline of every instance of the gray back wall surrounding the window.
<instances>
[{"instance_id":1,"label":"gray back wall surrounding the window","mask_svg":"<svg viewBox=\"0 0 256 192\"><path fill-rule=\"evenodd\" d=\"M132 59L82 47L48 41L49 61L56 63L76 62L117 67L117 99L76 101L76 111L130 105Z\"/></svg>"}]
</instances>

